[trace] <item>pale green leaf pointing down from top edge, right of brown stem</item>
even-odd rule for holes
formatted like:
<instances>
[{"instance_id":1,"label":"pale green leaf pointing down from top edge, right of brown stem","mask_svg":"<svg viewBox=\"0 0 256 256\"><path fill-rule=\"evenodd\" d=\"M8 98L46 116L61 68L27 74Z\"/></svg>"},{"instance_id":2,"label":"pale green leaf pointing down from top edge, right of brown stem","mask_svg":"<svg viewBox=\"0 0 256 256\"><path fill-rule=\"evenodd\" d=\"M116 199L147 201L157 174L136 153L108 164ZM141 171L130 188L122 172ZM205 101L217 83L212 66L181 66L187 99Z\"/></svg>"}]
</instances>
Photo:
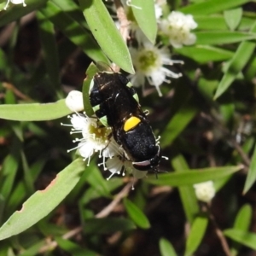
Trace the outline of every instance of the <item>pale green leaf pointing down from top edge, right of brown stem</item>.
<instances>
[{"instance_id":1,"label":"pale green leaf pointing down from top edge, right of brown stem","mask_svg":"<svg viewBox=\"0 0 256 256\"><path fill-rule=\"evenodd\" d=\"M138 26L148 40L154 44L157 32L154 0L132 0L131 9Z\"/></svg>"}]
</instances>

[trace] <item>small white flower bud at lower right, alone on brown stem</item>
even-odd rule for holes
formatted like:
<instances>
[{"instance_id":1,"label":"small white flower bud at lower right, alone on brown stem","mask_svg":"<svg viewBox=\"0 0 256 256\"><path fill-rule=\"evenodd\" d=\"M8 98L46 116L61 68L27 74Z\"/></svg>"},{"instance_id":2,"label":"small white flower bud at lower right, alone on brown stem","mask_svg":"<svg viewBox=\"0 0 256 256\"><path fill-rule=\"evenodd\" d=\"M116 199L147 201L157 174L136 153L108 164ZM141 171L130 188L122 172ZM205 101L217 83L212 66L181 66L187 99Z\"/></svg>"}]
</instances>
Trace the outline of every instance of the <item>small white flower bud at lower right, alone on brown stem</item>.
<instances>
[{"instance_id":1,"label":"small white flower bud at lower right, alone on brown stem","mask_svg":"<svg viewBox=\"0 0 256 256\"><path fill-rule=\"evenodd\" d=\"M198 200L210 202L215 195L215 188L212 181L194 184L195 195Z\"/></svg>"}]
</instances>

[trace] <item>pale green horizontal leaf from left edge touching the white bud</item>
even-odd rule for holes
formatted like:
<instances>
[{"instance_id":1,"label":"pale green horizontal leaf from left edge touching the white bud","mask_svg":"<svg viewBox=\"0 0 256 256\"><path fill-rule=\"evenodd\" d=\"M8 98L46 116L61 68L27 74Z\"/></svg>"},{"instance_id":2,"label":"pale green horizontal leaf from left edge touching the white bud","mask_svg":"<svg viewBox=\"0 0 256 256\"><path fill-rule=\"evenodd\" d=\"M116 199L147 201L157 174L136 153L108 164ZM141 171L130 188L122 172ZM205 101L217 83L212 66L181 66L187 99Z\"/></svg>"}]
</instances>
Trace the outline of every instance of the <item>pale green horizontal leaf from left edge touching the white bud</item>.
<instances>
[{"instance_id":1,"label":"pale green horizontal leaf from left edge touching the white bud","mask_svg":"<svg viewBox=\"0 0 256 256\"><path fill-rule=\"evenodd\" d=\"M65 104L65 100L54 103L31 103L0 105L0 118L17 121L43 121L59 119L72 113Z\"/></svg>"}]
</instances>

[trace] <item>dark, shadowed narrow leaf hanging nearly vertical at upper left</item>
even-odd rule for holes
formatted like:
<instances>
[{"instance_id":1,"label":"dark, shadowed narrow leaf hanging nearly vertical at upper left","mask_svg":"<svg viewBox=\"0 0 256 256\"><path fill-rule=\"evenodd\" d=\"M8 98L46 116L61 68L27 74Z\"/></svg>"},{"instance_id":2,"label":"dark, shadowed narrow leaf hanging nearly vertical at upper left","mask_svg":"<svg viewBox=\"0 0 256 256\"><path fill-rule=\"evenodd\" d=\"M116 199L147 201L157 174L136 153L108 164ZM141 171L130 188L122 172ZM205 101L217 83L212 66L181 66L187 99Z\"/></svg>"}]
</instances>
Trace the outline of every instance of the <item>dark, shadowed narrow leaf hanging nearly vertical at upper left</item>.
<instances>
[{"instance_id":1,"label":"dark, shadowed narrow leaf hanging nearly vertical at upper left","mask_svg":"<svg viewBox=\"0 0 256 256\"><path fill-rule=\"evenodd\" d=\"M61 88L59 59L55 41L55 28L42 13L37 12L39 36L49 79L55 88Z\"/></svg>"}]
</instances>

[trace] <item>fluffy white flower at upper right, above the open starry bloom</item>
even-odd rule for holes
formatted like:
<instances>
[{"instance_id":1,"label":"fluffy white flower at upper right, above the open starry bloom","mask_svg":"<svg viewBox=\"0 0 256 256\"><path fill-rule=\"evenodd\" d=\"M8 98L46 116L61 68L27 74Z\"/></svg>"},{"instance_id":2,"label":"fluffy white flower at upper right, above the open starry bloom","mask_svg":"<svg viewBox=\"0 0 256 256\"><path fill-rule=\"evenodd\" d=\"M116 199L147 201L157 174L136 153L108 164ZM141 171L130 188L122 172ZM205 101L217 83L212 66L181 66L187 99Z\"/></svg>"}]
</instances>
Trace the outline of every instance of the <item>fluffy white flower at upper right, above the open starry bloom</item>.
<instances>
[{"instance_id":1,"label":"fluffy white flower at upper right, above the open starry bloom","mask_svg":"<svg viewBox=\"0 0 256 256\"><path fill-rule=\"evenodd\" d=\"M170 39L170 44L175 48L181 48L183 44L195 44L195 34L191 29L195 29L197 23L192 15L183 15L183 13L172 11L166 20L160 21L160 29Z\"/></svg>"}]
</instances>

